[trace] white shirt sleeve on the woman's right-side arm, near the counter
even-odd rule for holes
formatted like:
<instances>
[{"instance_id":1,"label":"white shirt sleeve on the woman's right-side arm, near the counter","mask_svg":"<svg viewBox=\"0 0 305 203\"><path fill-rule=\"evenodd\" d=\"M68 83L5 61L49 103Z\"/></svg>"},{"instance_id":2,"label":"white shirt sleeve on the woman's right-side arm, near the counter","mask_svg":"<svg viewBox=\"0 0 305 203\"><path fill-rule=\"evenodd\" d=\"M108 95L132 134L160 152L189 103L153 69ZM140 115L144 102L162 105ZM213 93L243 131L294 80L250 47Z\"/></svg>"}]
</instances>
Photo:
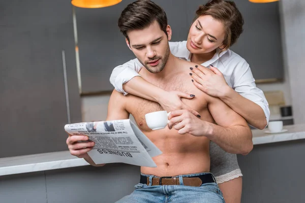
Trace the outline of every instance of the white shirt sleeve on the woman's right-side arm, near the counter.
<instances>
[{"instance_id":1,"label":"white shirt sleeve on the woman's right-side arm, near the counter","mask_svg":"<svg viewBox=\"0 0 305 203\"><path fill-rule=\"evenodd\" d=\"M270 110L267 99L263 91L256 87L255 79L253 78L250 66L245 60L242 60L237 64L234 69L232 79L234 80L233 89L243 97L248 98L259 105L265 113L268 124Z\"/></svg>"}]
</instances>

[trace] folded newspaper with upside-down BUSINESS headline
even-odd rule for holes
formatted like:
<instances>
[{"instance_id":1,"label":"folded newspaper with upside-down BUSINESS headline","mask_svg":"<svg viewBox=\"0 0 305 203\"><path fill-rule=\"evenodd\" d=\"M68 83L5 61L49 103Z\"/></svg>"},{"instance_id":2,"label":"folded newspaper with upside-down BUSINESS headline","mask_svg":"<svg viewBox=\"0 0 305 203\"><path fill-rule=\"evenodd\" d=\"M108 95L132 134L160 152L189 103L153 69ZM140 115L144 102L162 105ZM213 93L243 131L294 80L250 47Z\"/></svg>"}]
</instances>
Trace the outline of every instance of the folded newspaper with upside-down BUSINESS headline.
<instances>
[{"instance_id":1,"label":"folded newspaper with upside-down BUSINESS headline","mask_svg":"<svg viewBox=\"0 0 305 203\"><path fill-rule=\"evenodd\" d=\"M130 119L67 124L65 130L71 135L84 134L88 141L95 142L88 155L96 164L157 167L151 157L162 154Z\"/></svg>"}]
</instances>

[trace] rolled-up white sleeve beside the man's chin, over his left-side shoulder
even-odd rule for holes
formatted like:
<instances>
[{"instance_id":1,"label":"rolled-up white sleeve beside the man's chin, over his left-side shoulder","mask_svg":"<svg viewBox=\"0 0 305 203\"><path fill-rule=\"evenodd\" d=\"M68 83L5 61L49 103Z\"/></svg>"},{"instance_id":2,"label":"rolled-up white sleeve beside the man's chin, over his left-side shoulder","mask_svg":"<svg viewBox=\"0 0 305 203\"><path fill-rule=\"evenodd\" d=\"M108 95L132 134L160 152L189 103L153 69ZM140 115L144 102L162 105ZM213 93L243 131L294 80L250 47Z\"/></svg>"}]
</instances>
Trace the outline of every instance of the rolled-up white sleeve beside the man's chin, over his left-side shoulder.
<instances>
[{"instance_id":1,"label":"rolled-up white sleeve beside the man's chin, over his left-side shoulder","mask_svg":"<svg viewBox=\"0 0 305 203\"><path fill-rule=\"evenodd\" d=\"M123 84L130 81L136 76L140 76L138 72L141 70L142 64L138 59L130 60L123 65L116 66L110 76L110 83L113 85L116 91L127 95L124 91Z\"/></svg>"}]
</instances>

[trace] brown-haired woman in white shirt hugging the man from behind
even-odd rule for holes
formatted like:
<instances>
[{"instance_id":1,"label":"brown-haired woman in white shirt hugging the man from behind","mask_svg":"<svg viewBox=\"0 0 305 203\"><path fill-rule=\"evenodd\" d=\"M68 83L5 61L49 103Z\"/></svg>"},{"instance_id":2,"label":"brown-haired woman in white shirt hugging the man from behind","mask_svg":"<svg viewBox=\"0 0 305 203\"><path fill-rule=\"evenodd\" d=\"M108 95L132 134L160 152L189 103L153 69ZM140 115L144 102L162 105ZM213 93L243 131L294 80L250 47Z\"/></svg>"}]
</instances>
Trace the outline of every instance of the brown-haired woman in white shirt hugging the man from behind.
<instances>
[{"instance_id":1,"label":"brown-haired woman in white shirt hugging the man from behind","mask_svg":"<svg viewBox=\"0 0 305 203\"><path fill-rule=\"evenodd\" d=\"M194 85L222 99L252 126L263 129L269 117L264 94L256 88L249 64L229 50L242 32L243 19L236 5L229 1L214 0L200 6L196 14L187 41L170 43L172 54L203 66L210 65L212 72L200 66L190 68L190 80ZM120 92L157 101L168 112L182 108L191 110L180 100L181 97L193 98L191 92L167 92L141 77L135 77L139 76L137 72L141 67L137 59L117 66L110 82ZM197 115L194 110L192 112ZM216 176L226 202L240 202L242 174L236 155L211 143L210 158L210 171Z\"/></svg>"}]
</instances>

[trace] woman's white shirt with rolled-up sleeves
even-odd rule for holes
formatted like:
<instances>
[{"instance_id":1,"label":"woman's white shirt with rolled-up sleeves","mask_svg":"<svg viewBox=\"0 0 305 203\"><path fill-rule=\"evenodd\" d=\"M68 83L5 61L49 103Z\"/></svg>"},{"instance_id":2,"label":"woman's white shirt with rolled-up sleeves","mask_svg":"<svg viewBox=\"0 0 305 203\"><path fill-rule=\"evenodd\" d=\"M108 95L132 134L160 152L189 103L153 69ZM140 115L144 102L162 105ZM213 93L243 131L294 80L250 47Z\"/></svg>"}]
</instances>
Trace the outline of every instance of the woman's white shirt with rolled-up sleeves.
<instances>
[{"instance_id":1,"label":"woman's white shirt with rolled-up sleeves","mask_svg":"<svg viewBox=\"0 0 305 203\"><path fill-rule=\"evenodd\" d=\"M190 61L191 53L187 49L187 41L169 42L169 47L174 56ZM256 87L250 66L245 59L228 49L220 54L219 52L215 53L210 60L201 65L209 67L210 64L222 72L230 87L243 97L259 105L265 113L267 122L269 121L270 111L266 97L263 91ZM110 83L117 91L125 95L128 94L123 90L123 84L135 76L140 76L138 72L142 66L138 59L116 66L110 76Z\"/></svg>"}]
</instances>

